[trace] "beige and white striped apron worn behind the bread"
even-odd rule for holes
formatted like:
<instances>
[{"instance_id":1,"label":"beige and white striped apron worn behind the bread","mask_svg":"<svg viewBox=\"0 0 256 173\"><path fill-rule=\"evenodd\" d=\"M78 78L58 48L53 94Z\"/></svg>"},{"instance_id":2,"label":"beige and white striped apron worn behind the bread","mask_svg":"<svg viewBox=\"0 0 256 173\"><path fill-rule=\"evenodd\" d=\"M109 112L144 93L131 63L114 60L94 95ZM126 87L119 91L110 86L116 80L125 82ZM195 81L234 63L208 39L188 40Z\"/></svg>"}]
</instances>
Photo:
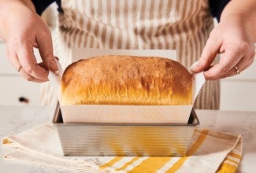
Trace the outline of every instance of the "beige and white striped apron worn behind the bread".
<instances>
[{"instance_id":1,"label":"beige and white striped apron worn behind the bread","mask_svg":"<svg viewBox=\"0 0 256 173\"><path fill-rule=\"evenodd\" d=\"M71 63L72 48L172 49L187 68L198 60L213 29L208 0L63 0L54 54ZM196 109L219 108L219 82L207 81ZM51 89L43 104L53 103Z\"/></svg>"}]
</instances>

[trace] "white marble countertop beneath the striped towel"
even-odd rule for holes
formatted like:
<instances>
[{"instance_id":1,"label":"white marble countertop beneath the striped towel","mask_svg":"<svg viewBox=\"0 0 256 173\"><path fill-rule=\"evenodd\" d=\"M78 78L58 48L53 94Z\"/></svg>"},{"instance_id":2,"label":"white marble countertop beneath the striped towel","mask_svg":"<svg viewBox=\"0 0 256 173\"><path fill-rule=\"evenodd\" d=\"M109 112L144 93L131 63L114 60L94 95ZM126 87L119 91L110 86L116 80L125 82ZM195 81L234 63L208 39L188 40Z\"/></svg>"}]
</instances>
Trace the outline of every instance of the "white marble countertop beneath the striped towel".
<instances>
[{"instance_id":1,"label":"white marble countertop beneath the striped towel","mask_svg":"<svg viewBox=\"0 0 256 173\"><path fill-rule=\"evenodd\" d=\"M0 106L0 138L50 122L50 107ZM238 172L254 172L256 168L256 112L197 110L200 128L242 134L243 159ZM0 145L0 172L68 172L37 167L3 159ZM70 172L70 171L69 171Z\"/></svg>"}]
</instances>

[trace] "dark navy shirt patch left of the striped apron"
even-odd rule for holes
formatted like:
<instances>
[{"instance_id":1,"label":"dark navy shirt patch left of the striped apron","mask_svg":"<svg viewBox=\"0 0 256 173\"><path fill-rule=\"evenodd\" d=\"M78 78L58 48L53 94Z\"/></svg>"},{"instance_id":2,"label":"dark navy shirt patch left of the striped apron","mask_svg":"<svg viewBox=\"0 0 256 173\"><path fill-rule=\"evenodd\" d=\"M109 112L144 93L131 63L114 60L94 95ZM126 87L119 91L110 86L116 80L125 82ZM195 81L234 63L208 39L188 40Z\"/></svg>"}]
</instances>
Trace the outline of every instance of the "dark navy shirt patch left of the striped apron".
<instances>
[{"instance_id":1,"label":"dark navy shirt patch left of the striped apron","mask_svg":"<svg viewBox=\"0 0 256 173\"><path fill-rule=\"evenodd\" d=\"M61 0L32 0L36 13L41 15L43 11L50 6L51 3L56 2L58 5L58 12L63 13L63 10L61 9Z\"/></svg>"}]
</instances>

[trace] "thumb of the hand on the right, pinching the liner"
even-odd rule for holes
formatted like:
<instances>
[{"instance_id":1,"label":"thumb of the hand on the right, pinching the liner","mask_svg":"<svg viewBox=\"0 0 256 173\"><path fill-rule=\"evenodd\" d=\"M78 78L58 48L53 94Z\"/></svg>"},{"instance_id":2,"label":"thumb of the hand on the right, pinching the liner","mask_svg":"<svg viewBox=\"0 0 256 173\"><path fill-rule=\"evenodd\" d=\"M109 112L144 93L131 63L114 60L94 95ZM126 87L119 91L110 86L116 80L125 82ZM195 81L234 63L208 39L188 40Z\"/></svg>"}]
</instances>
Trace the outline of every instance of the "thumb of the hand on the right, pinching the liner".
<instances>
[{"instance_id":1,"label":"thumb of the hand on the right, pinching the liner","mask_svg":"<svg viewBox=\"0 0 256 173\"><path fill-rule=\"evenodd\" d=\"M191 70L197 73L204 71L206 68L209 68L210 64L212 64L217 53L219 52L220 47L221 40L213 39L213 37L210 37L206 42L206 46L202 50L202 55L199 58L197 64L195 64L195 66L191 68Z\"/></svg>"}]
</instances>

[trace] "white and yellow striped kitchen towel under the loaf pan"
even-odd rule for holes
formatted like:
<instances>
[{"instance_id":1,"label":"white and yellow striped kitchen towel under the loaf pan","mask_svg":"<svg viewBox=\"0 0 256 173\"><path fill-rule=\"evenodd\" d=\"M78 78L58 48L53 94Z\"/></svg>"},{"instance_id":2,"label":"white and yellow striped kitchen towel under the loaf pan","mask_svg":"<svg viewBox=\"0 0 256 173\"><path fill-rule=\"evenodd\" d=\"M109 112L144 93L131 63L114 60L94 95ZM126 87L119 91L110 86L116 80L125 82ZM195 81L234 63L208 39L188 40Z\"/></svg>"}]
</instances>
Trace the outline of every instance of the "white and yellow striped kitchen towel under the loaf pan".
<instances>
[{"instance_id":1,"label":"white and yellow striped kitchen towel under the loaf pan","mask_svg":"<svg viewBox=\"0 0 256 173\"><path fill-rule=\"evenodd\" d=\"M195 130L187 156L63 156L58 131L50 123L2 138L6 160L83 172L236 172L242 155L240 134Z\"/></svg>"}]
</instances>

